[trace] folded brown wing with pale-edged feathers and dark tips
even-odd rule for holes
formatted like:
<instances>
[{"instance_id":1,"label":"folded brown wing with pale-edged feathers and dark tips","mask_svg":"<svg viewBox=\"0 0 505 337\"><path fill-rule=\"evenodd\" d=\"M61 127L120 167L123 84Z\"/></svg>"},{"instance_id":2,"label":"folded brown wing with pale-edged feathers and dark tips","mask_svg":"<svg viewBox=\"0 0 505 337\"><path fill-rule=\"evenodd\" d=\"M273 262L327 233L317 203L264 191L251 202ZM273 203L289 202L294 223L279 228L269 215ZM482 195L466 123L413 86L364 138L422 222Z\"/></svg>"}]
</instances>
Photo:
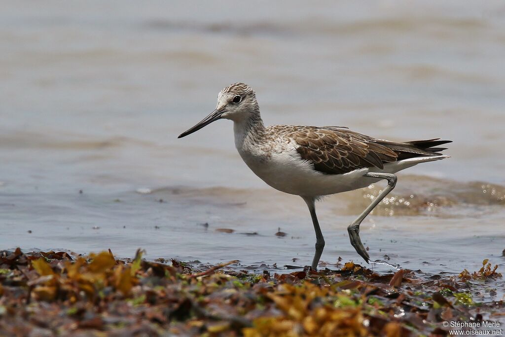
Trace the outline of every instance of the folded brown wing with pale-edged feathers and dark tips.
<instances>
[{"instance_id":1,"label":"folded brown wing with pale-edged feathers and dark tips","mask_svg":"<svg viewBox=\"0 0 505 337\"><path fill-rule=\"evenodd\" d=\"M336 127L297 127L289 134L299 147L302 159L309 160L314 170L338 175L365 167L412 157L440 155L435 148L447 140L429 139L405 143L375 139L360 133Z\"/></svg>"}]
</instances>

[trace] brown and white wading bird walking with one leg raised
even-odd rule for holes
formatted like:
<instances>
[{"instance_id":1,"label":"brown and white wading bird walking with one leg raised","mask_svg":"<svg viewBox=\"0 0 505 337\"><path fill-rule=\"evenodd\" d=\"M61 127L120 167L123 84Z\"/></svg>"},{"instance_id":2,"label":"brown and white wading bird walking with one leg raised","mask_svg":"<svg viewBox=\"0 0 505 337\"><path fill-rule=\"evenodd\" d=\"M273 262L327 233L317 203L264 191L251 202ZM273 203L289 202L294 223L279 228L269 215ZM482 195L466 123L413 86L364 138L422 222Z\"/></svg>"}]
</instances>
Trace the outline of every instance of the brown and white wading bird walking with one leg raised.
<instances>
[{"instance_id":1,"label":"brown and white wading bird walking with one leg raised","mask_svg":"<svg viewBox=\"0 0 505 337\"><path fill-rule=\"evenodd\" d=\"M299 195L307 203L316 231L313 269L317 269L325 244L316 216L318 199L387 181L387 187L347 227L351 245L368 262L370 256L360 239L360 224L394 188L394 174L421 162L448 158L439 153L446 148L438 146L451 142L438 138L391 142L344 127L265 127L256 93L244 83L221 90L216 109L178 138L220 119L233 121L235 146L252 172L273 188Z\"/></svg>"}]
</instances>

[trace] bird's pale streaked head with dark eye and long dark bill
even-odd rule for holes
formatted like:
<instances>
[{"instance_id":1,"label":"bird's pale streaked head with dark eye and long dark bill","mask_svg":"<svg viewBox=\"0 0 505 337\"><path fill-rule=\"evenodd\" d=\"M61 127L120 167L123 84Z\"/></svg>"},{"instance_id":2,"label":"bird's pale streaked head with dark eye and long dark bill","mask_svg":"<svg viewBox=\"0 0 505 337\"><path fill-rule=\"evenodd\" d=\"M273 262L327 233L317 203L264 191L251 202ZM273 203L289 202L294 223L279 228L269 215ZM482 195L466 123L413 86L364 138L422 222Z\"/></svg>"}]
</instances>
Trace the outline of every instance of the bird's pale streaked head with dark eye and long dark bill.
<instances>
[{"instance_id":1,"label":"bird's pale streaked head with dark eye and long dark bill","mask_svg":"<svg viewBox=\"0 0 505 337\"><path fill-rule=\"evenodd\" d=\"M209 116L177 138L185 137L220 119L242 122L259 115L260 108L254 90L247 84L234 83L221 90L216 109Z\"/></svg>"}]
</instances>

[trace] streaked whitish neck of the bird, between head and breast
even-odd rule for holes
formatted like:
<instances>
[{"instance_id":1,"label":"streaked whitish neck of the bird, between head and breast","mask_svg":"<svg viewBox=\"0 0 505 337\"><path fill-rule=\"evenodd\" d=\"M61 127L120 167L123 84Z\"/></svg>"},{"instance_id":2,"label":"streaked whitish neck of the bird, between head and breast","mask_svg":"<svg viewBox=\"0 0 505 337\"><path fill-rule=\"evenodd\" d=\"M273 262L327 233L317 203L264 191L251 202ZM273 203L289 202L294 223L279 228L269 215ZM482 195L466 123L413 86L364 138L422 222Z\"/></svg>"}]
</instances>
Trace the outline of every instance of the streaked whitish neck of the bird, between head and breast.
<instances>
[{"instance_id":1,"label":"streaked whitish neck of the bird, between head and breast","mask_svg":"<svg viewBox=\"0 0 505 337\"><path fill-rule=\"evenodd\" d=\"M235 134L235 146L240 152L261 143L265 135L265 125L258 112L251 114L246 119L234 121L233 131Z\"/></svg>"}]
</instances>

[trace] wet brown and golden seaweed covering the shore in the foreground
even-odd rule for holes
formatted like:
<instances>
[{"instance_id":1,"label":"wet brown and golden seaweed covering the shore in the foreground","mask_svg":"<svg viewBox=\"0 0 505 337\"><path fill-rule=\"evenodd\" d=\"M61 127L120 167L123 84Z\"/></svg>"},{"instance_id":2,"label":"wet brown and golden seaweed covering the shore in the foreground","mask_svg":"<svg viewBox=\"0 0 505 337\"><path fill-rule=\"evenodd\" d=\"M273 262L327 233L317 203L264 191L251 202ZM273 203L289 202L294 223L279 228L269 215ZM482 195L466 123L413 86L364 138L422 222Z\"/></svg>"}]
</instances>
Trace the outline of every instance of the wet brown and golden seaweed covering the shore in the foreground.
<instances>
[{"instance_id":1,"label":"wet brown and golden seaweed covering the shore in the foreground","mask_svg":"<svg viewBox=\"0 0 505 337\"><path fill-rule=\"evenodd\" d=\"M475 301L475 280L501 277L487 260L451 276L352 262L262 274L238 261L195 263L2 251L0 335L427 336L448 335L446 321L505 313L502 299Z\"/></svg>"}]
</instances>

